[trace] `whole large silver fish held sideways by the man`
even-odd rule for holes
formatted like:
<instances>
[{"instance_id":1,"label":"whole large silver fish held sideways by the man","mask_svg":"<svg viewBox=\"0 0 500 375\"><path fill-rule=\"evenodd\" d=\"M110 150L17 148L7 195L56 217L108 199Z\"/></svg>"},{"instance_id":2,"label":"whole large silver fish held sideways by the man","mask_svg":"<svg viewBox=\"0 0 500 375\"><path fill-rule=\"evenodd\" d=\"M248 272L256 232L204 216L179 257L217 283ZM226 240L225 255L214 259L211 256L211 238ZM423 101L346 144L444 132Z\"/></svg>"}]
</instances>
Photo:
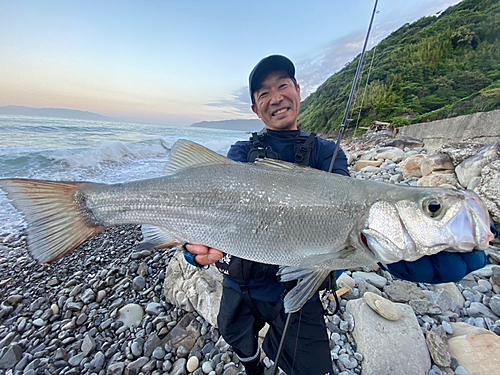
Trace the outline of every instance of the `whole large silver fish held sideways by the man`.
<instances>
[{"instance_id":1,"label":"whole large silver fish held sideways by the man","mask_svg":"<svg viewBox=\"0 0 500 375\"><path fill-rule=\"evenodd\" d=\"M291 266L282 277L304 280L288 294L288 311L329 270L486 249L493 238L488 211L470 191L360 181L273 160L237 163L185 140L173 146L166 172L113 185L6 179L0 187L24 213L40 262L109 226L157 226L172 246L205 244Z\"/></svg>"}]
</instances>

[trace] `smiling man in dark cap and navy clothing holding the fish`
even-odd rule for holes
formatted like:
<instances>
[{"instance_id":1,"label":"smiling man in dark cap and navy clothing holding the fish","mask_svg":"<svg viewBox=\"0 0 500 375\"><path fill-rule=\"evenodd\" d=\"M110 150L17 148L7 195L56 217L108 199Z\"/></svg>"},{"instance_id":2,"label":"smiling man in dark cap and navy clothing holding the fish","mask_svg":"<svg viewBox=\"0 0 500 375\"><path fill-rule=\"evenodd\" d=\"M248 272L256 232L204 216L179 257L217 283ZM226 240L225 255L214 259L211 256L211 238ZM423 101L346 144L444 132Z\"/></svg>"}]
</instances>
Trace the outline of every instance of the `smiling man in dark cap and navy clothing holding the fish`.
<instances>
[{"instance_id":1,"label":"smiling man in dark cap and navy clothing holding the fish","mask_svg":"<svg viewBox=\"0 0 500 375\"><path fill-rule=\"evenodd\" d=\"M314 138L314 135L309 137L299 130L300 87L295 79L293 63L284 56L268 56L252 70L249 84L252 110L264 122L266 132L254 134L250 141L234 144L228 158L241 162L252 162L255 156L281 158L289 162L306 159L306 165L328 171L336 144ZM301 146L305 147L297 147L300 139ZM302 150L302 154L298 150ZM342 150L339 150L335 160L333 173L349 176ZM263 349L274 359L286 320L280 303L286 287L276 279L277 266L224 256L219 250L202 245L188 244L186 249L186 260L193 265L206 266L217 262L217 267L224 274L217 319L219 330L232 345L246 373L263 374L257 333L265 322L269 323ZM407 280L446 282L460 280L468 272L484 266L485 262L484 252L474 251L468 254L437 254L416 262L399 262L388 268L396 276ZM333 374L323 308L317 293L292 315L279 365L289 375Z\"/></svg>"}]
</instances>

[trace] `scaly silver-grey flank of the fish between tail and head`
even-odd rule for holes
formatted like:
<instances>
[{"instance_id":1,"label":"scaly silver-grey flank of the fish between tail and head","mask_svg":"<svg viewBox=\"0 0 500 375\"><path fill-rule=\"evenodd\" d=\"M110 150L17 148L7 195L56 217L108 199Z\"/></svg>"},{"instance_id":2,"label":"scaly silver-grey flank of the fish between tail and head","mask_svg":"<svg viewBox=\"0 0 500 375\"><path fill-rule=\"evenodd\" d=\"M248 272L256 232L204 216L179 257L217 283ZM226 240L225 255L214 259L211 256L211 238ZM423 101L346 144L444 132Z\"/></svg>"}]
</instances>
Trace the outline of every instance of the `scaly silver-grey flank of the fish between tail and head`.
<instances>
[{"instance_id":1,"label":"scaly silver-grey flank of the fish between tail and head","mask_svg":"<svg viewBox=\"0 0 500 375\"><path fill-rule=\"evenodd\" d=\"M343 176L245 167L209 165L157 179L98 185L85 191L87 206L103 225L156 225L179 242L298 266L312 254L326 254L347 242L367 205L379 199L369 187L354 190L359 184ZM357 194L349 195L352 191ZM359 261L351 257L342 267L359 266ZM362 265L372 263L368 256Z\"/></svg>"}]
</instances>

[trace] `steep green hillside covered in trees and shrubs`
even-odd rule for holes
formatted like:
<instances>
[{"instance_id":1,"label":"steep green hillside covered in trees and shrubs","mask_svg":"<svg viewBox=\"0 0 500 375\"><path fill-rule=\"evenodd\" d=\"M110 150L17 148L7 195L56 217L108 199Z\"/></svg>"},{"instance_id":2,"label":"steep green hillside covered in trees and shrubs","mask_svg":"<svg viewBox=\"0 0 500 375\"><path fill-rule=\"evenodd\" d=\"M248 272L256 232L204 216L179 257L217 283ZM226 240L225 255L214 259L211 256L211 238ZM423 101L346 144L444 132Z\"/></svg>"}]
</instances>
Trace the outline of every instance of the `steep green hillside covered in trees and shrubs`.
<instances>
[{"instance_id":1,"label":"steep green hillside covered in trees and shrubs","mask_svg":"<svg viewBox=\"0 0 500 375\"><path fill-rule=\"evenodd\" d=\"M368 70L373 67L366 86ZM299 125L329 133L342 122L359 56L302 102ZM500 108L500 0L464 0L405 24L365 54L351 131ZM363 106L361 101L366 87Z\"/></svg>"}]
</instances>

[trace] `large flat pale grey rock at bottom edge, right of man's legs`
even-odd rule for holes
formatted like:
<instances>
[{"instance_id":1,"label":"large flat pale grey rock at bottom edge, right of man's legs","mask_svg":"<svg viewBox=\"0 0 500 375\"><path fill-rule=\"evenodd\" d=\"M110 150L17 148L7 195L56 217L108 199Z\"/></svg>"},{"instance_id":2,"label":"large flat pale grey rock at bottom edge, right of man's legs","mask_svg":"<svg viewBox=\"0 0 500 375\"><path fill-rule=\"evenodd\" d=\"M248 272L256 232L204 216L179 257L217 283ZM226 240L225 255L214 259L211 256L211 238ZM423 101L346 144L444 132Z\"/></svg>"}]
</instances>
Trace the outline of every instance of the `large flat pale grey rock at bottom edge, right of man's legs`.
<instances>
[{"instance_id":1,"label":"large flat pale grey rock at bottom edge, right of man's legs","mask_svg":"<svg viewBox=\"0 0 500 375\"><path fill-rule=\"evenodd\" d=\"M422 330L411 307L396 304L402 316L389 321L375 313L363 299L352 300L346 309L356 322L352 335L362 353L366 374L427 374L431 360Z\"/></svg>"}]
</instances>

